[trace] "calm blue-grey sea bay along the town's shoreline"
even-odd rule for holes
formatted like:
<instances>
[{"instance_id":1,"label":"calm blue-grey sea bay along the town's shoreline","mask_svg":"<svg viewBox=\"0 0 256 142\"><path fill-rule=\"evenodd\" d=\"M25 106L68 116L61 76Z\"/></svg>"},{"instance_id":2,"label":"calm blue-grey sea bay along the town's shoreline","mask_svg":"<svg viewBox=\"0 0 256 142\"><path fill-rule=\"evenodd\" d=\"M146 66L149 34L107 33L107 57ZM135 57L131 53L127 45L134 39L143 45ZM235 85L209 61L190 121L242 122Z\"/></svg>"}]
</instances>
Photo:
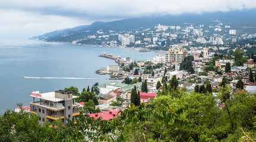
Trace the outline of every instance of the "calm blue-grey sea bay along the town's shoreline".
<instances>
[{"instance_id":1,"label":"calm blue-grey sea bay along the town's shoreline","mask_svg":"<svg viewBox=\"0 0 256 142\"><path fill-rule=\"evenodd\" d=\"M72 46L29 40L0 40L0 114L21 102L32 101L29 92L50 92L76 86L79 92L95 82L110 82L108 75L95 70L114 65L113 60L98 57L100 53L132 57L133 61L153 59L157 52L138 52L111 47ZM25 79L31 77L96 78L96 79Z\"/></svg>"}]
</instances>

